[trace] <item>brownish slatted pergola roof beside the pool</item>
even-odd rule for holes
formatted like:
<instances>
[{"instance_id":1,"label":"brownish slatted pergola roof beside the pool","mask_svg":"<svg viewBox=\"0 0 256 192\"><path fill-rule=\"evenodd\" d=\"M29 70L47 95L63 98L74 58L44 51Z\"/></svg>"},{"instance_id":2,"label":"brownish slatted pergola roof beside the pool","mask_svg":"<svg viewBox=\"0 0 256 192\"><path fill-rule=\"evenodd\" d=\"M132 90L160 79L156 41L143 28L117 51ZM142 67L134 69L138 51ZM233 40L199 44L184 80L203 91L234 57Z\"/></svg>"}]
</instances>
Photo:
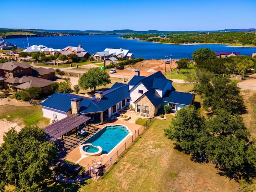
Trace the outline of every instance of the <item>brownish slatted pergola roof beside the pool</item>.
<instances>
[{"instance_id":1,"label":"brownish slatted pergola roof beside the pool","mask_svg":"<svg viewBox=\"0 0 256 192\"><path fill-rule=\"evenodd\" d=\"M58 137L64 135L65 133L73 130L77 126L83 124L84 122L90 120L90 117L83 115L71 114L66 118L55 122L44 128L50 141L56 140Z\"/></svg>"}]
</instances>

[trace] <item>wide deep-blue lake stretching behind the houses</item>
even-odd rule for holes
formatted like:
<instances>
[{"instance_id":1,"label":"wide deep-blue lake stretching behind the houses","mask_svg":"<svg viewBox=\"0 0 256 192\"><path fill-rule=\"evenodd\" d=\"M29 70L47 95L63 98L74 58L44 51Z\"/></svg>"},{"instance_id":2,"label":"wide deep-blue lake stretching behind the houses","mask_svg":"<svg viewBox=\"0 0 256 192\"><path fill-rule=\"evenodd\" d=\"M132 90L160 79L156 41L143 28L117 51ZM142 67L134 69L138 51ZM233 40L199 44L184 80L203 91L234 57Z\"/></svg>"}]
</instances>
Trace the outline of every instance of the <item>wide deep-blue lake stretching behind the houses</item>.
<instances>
[{"instance_id":1,"label":"wide deep-blue lake stretching behind the houses","mask_svg":"<svg viewBox=\"0 0 256 192\"><path fill-rule=\"evenodd\" d=\"M5 39L5 41L16 44L20 48L36 45L44 45L46 47L63 49L67 46L82 45L85 51L90 54L104 51L105 48L122 48L129 49L135 58L142 57L146 60L172 58L192 58L194 50L199 48L210 48L214 51L224 52L240 52L241 55L252 55L256 52L256 48L252 47L230 47L227 45L217 44L198 44L198 45L174 45L159 44L153 42L142 42L138 40L127 40L119 38L119 35L86 35L86 36L56 36L56 37L29 37Z\"/></svg>"}]
</instances>

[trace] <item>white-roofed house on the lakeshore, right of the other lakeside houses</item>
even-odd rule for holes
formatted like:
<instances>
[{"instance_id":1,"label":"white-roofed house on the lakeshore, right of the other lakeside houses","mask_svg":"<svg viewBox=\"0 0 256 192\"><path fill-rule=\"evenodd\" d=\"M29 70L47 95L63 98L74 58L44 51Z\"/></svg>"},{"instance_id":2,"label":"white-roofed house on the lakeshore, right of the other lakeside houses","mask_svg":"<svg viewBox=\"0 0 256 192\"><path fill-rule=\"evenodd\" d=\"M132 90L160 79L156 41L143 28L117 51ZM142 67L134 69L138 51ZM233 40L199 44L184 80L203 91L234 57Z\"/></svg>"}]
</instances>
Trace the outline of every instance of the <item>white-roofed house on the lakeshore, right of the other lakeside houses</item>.
<instances>
[{"instance_id":1,"label":"white-roofed house on the lakeshore, right of the other lakeside houses","mask_svg":"<svg viewBox=\"0 0 256 192\"><path fill-rule=\"evenodd\" d=\"M130 50L127 49L110 49L106 48L102 52L96 52L93 55L94 60L100 61L103 60L104 58L110 58L110 57L121 57L123 60L125 59L133 59L134 55Z\"/></svg>"}]
</instances>

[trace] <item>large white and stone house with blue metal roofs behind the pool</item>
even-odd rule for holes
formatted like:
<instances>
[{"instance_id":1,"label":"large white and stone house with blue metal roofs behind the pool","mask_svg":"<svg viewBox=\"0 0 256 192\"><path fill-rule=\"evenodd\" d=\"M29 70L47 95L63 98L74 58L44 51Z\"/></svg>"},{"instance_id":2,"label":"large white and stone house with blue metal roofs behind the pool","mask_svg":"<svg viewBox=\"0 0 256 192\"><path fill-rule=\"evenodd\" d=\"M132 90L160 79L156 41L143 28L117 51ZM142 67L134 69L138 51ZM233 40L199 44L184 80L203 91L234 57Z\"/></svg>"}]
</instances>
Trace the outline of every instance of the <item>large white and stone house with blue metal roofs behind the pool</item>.
<instances>
[{"instance_id":1,"label":"large white and stone house with blue metal roofs behind the pool","mask_svg":"<svg viewBox=\"0 0 256 192\"><path fill-rule=\"evenodd\" d=\"M176 92L172 81L159 71L148 77L134 76L128 84L115 83L104 92L96 91L92 98L54 93L40 106L44 117L50 119L61 120L75 111L84 116L96 116L104 122L126 106L132 105L137 113L156 116L158 109L166 104L174 111L179 110L194 104L194 94Z\"/></svg>"}]
</instances>

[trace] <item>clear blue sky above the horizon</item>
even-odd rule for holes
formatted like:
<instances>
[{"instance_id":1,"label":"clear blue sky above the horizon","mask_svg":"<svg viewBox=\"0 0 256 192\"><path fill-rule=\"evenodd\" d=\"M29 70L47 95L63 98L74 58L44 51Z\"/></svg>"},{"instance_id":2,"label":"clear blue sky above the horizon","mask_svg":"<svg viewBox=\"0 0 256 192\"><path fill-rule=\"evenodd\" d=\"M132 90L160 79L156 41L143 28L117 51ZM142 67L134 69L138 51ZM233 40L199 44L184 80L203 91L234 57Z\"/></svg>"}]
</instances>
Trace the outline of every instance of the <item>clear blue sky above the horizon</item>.
<instances>
[{"instance_id":1,"label":"clear blue sky above the horizon","mask_svg":"<svg viewBox=\"0 0 256 192\"><path fill-rule=\"evenodd\" d=\"M256 28L256 0L1 0L0 28L193 31Z\"/></svg>"}]
</instances>

